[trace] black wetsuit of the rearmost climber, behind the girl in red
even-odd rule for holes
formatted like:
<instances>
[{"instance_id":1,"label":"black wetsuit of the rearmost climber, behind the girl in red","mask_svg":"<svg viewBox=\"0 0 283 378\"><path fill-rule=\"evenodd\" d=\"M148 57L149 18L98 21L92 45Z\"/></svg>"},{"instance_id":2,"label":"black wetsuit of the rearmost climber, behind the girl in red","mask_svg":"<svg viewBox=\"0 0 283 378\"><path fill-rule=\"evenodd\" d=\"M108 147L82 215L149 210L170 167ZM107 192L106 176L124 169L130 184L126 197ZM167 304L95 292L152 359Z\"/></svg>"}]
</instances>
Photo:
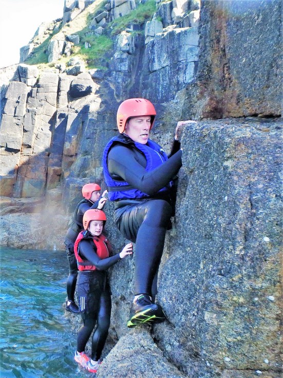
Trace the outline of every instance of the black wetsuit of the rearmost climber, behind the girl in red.
<instances>
[{"instance_id":1,"label":"black wetsuit of the rearmost climber, behind the girl in red","mask_svg":"<svg viewBox=\"0 0 283 378\"><path fill-rule=\"evenodd\" d=\"M74 256L74 242L76 241L79 233L84 229L83 228L83 216L84 213L89 209L97 209L99 200L95 203L92 203L89 200L82 200L76 210L74 211L73 218L70 224L70 227L67 231L65 238L65 246L67 259L69 263L69 275L67 278L67 296L68 300L74 302L74 292L76 290L76 282L78 276L78 265L76 257Z\"/></svg>"}]
</instances>

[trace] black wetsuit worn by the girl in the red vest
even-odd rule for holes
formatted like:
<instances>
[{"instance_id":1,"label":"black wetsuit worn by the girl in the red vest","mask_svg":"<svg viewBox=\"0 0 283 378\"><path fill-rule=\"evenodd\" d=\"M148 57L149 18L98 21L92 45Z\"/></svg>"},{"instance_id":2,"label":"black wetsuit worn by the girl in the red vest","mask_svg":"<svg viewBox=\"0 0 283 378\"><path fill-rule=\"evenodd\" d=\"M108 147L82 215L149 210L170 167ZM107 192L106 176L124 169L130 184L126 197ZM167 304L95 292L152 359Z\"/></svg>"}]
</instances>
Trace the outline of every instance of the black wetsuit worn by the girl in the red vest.
<instances>
[{"instance_id":1,"label":"black wetsuit worn by the girl in the red vest","mask_svg":"<svg viewBox=\"0 0 283 378\"><path fill-rule=\"evenodd\" d=\"M111 316L111 292L106 269L121 260L119 254L100 259L92 238L83 239L79 244L80 256L90 261L99 270L79 272L77 291L83 326L78 332L77 350L83 352L91 332L91 358L98 361L108 335Z\"/></svg>"}]
</instances>

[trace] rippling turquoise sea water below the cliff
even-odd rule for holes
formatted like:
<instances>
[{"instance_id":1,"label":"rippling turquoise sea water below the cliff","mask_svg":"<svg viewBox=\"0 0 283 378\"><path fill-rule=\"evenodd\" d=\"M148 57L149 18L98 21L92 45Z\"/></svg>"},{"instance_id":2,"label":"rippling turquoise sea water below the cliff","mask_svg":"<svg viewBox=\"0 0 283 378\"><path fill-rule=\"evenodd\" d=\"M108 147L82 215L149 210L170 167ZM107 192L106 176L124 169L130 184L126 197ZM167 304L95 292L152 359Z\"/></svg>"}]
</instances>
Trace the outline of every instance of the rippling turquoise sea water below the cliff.
<instances>
[{"instance_id":1,"label":"rippling turquoise sea water below the cliff","mask_svg":"<svg viewBox=\"0 0 283 378\"><path fill-rule=\"evenodd\" d=\"M67 265L64 251L0 249L1 378L94 376L73 359L76 334L62 308Z\"/></svg>"}]
</instances>

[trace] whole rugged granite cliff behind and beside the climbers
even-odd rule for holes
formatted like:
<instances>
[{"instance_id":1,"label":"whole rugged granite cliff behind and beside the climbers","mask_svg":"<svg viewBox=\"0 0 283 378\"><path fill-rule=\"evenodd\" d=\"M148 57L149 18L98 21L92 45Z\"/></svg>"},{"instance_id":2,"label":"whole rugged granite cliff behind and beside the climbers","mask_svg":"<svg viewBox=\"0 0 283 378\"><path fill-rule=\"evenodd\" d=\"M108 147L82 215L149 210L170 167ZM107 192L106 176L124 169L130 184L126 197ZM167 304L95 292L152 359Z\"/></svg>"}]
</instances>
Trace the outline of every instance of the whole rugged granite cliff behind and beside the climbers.
<instances>
[{"instance_id":1,"label":"whole rugged granite cliff behind and beside the climbers","mask_svg":"<svg viewBox=\"0 0 283 378\"><path fill-rule=\"evenodd\" d=\"M134 261L115 266L113 348L97 376L279 378L281 2L149 6L66 0L62 20L39 28L22 62L1 70L0 243L64 249L82 185L105 188L102 151L122 100L155 104L152 138L167 151L176 122L194 119L181 138L176 216L160 267L167 321L127 330ZM101 38L111 43L92 65L81 52ZM41 46L44 65L34 63ZM107 204L107 233L118 251L112 210Z\"/></svg>"}]
</instances>

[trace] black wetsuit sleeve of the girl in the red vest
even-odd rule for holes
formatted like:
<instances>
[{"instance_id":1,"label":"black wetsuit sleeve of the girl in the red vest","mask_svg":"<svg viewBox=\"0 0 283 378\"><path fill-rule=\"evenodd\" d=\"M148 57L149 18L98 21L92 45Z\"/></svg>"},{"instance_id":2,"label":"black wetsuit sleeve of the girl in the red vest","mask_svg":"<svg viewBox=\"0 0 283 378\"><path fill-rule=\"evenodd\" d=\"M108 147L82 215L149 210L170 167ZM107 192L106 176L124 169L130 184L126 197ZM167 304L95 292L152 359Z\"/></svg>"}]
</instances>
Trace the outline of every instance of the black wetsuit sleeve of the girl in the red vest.
<instances>
[{"instance_id":1,"label":"black wetsuit sleeve of the girl in the red vest","mask_svg":"<svg viewBox=\"0 0 283 378\"><path fill-rule=\"evenodd\" d=\"M95 267L97 267L100 271L105 271L110 266L116 264L119 260L121 260L120 255L114 255L107 257L106 259L100 259L94 248L95 246L87 240L82 240L80 242L80 255L90 261Z\"/></svg>"}]
</instances>

